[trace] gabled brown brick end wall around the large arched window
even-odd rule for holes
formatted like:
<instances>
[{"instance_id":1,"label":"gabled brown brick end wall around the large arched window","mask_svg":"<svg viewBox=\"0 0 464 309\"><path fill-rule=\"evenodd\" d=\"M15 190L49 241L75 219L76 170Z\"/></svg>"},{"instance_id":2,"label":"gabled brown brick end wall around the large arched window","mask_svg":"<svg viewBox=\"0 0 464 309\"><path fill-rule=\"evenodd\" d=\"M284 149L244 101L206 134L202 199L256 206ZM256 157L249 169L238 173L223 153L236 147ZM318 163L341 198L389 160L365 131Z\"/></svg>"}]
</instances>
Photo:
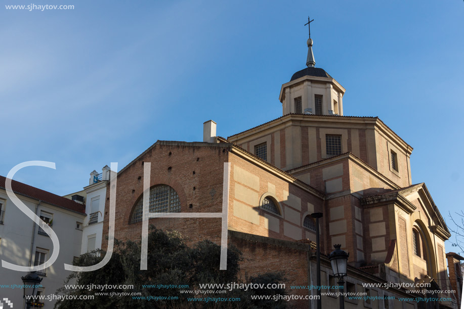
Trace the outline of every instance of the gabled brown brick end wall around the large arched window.
<instances>
[{"instance_id":1,"label":"gabled brown brick end wall around the large arched window","mask_svg":"<svg viewBox=\"0 0 464 309\"><path fill-rule=\"evenodd\" d=\"M139 241L142 223L130 224L132 210L143 194L143 167L151 162L150 185L165 184L179 194L182 212L221 212L224 162L229 146L194 147L158 144L127 166L117 177L115 238ZM107 196L109 196L109 187ZM105 203L104 236L108 231L109 200ZM152 218L150 224L177 230L196 242L207 236L219 242L220 218ZM103 248L107 240L103 237Z\"/></svg>"}]
</instances>

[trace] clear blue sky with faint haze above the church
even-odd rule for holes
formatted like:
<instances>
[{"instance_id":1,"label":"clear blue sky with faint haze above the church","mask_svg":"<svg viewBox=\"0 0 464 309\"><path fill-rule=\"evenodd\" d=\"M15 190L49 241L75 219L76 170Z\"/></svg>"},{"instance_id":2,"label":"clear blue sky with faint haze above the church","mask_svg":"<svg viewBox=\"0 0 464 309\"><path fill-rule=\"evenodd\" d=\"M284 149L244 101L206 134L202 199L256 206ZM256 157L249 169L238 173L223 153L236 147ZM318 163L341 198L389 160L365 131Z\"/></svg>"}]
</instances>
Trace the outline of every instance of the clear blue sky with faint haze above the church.
<instances>
[{"instance_id":1,"label":"clear blue sky with faint haze above the church","mask_svg":"<svg viewBox=\"0 0 464 309\"><path fill-rule=\"evenodd\" d=\"M227 137L281 115L280 86L316 67L346 89L345 115L378 116L408 144L413 183L442 215L462 209L464 3L453 1L40 0L0 7L0 174L64 195L156 140ZM447 246L448 250L451 247Z\"/></svg>"}]
</instances>

